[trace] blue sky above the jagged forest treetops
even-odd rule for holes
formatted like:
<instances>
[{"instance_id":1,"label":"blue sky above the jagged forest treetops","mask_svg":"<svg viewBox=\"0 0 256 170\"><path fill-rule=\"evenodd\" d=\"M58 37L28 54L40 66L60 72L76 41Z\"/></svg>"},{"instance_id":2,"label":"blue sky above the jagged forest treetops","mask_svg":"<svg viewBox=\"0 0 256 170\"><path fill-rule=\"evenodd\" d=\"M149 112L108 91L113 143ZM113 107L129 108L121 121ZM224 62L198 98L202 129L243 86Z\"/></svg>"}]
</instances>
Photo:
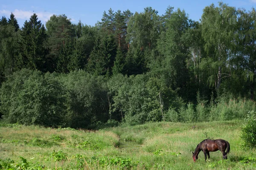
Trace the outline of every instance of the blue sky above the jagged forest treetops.
<instances>
[{"instance_id":1,"label":"blue sky above the jagged forest treetops","mask_svg":"<svg viewBox=\"0 0 256 170\"><path fill-rule=\"evenodd\" d=\"M205 6L214 3L218 6L220 0L0 0L0 17L9 18L11 12L15 14L20 27L25 20L29 20L33 13L43 24L53 14L65 14L72 23L82 23L94 26L101 21L104 11L108 13L109 8L114 12L117 10L131 12L143 12L145 7L151 6L158 14L165 13L168 6L184 9L189 18L197 20L201 18ZM256 6L256 0L223 0L229 6L245 8L247 11Z\"/></svg>"}]
</instances>

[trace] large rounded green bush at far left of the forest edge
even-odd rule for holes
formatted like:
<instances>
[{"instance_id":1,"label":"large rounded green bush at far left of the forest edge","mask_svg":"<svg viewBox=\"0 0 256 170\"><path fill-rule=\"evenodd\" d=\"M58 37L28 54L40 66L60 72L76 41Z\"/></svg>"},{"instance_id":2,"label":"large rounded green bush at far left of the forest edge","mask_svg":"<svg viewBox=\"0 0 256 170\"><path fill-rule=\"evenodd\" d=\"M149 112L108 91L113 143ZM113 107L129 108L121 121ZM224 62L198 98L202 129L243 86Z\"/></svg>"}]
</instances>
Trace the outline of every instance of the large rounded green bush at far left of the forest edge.
<instances>
[{"instance_id":1,"label":"large rounded green bush at far left of the forest edge","mask_svg":"<svg viewBox=\"0 0 256 170\"><path fill-rule=\"evenodd\" d=\"M24 125L61 125L64 89L55 77L27 69L8 77L0 89L3 118Z\"/></svg>"}]
</instances>

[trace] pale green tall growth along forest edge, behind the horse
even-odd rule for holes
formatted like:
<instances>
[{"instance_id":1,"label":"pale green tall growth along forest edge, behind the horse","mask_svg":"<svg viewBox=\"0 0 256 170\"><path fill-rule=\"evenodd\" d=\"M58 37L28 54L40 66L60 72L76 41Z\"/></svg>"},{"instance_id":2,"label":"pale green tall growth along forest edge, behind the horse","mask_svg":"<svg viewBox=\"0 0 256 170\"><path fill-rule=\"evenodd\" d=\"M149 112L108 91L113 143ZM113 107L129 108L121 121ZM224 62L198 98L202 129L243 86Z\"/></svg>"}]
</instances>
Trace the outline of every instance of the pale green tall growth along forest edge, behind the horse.
<instances>
[{"instance_id":1,"label":"pale green tall growth along forest edge, behind the horse","mask_svg":"<svg viewBox=\"0 0 256 170\"><path fill-rule=\"evenodd\" d=\"M170 108L166 120L171 122L208 122L243 119L248 111L256 110L256 103L244 98L219 97L215 102L199 100L197 105L188 103L178 111Z\"/></svg>"}]
</instances>

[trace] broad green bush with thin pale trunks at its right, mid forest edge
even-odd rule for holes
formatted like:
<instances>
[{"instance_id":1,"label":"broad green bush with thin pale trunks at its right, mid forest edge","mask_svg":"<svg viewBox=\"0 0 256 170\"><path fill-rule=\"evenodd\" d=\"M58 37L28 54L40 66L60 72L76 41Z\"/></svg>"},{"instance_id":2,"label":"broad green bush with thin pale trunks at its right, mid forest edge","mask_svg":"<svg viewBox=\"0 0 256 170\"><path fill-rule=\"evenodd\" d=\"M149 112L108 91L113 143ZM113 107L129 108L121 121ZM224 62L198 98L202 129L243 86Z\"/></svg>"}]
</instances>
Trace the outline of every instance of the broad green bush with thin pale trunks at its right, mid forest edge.
<instances>
[{"instance_id":1,"label":"broad green bush with thin pale trunks at its right, mid forest edge","mask_svg":"<svg viewBox=\"0 0 256 170\"><path fill-rule=\"evenodd\" d=\"M128 125L162 121L169 107L179 108L182 103L163 80L144 74L115 75L108 81L108 89L112 99L111 114L119 114ZM168 114L166 116L168 120Z\"/></svg>"}]
</instances>

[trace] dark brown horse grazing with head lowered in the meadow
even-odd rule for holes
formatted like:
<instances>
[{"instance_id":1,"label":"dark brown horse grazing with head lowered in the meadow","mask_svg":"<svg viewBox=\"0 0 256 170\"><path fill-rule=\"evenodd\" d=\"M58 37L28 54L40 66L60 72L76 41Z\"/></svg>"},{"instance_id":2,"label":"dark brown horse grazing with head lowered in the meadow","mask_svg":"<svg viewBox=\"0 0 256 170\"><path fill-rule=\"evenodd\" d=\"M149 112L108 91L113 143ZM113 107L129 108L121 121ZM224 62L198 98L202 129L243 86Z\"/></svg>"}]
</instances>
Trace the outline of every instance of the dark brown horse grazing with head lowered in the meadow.
<instances>
[{"instance_id":1,"label":"dark brown horse grazing with head lowered in the meadow","mask_svg":"<svg viewBox=\"0 0 256 170\"><path fill-rule=\"evenodd\" d=\"M227 149L227 152L225 150ZM193 153L193 160L195 162L196 159L198 159L198 153L203 150L204 152L204 158L206 161L206 154L208 155L208 159L210 159L209 152L215 152L217 150L220 150L223 155L223 159L227 159L227 153L230 151L230 144L223 140L223 139L217 139L217 140L210 140L210 139L204 139L202 142L200 142L197 147L195 148L195 152Z\"/></svg>"}]
</instances>

